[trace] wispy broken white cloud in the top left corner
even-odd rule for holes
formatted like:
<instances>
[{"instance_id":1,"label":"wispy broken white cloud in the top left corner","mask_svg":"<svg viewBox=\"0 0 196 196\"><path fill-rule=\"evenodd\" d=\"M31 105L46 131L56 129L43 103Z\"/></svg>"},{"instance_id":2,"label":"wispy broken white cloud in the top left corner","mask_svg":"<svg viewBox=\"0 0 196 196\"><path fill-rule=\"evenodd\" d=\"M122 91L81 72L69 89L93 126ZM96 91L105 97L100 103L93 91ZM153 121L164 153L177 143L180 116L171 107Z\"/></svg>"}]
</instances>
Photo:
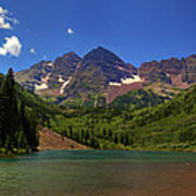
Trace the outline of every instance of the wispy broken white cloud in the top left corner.
<instances>
[{"instance_id":1,"label":"wispy broken white cloud in the top left corner","mask_svg":"<svg viewBox=\"0 0 196 196\"><path fill-rule=\"evenodd\" d=\"M19 21L14 17L9 17L12 15L8 10L0 7L0 28L12 29L11 23L14 25L19 24Z\"/></svg>"}]
</instances>

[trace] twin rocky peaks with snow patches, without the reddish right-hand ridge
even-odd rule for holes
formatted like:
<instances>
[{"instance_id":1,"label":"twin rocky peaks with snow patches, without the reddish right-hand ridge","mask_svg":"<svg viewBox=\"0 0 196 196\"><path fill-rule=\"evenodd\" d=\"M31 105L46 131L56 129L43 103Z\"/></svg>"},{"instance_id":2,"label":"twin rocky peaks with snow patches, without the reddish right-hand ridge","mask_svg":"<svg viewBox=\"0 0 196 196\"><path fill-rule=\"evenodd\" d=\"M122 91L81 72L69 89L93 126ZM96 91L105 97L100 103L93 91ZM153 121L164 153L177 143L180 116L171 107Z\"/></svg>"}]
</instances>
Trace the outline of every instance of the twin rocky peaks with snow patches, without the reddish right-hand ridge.
<instances>
[{"instance_id":1,"label":"twin rocky peaks with snow patches, without the reddish right-hand ridge","mask_svg":"<svg viewBox=\"0 0 196 196\"><path fill-rule=\"evenodd\" d=\"M15 73L15 79L53 102L65 103L75 99L83 102L88 96L106 97L110 102L121 86L140 81L136 74L135 66L98 47L84 58L69 52L53 62L41 61L29 70Z\"/></svg>"}]
</instances>

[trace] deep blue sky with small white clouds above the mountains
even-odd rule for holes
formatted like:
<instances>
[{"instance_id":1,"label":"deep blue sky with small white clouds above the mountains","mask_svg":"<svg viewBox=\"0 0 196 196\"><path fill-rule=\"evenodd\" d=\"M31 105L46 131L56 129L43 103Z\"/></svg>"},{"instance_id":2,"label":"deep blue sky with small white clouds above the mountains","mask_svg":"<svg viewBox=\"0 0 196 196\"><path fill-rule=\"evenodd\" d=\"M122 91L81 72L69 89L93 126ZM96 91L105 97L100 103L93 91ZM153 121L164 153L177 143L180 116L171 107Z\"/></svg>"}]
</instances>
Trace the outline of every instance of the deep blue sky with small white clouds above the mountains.
<instances>
[{"instance_id":1,"label":"deep blue sky with small white clouds above the mountains","mask_svg":"<svg viewBox=\"0 0 196 196\"><path fill-rule=\"evenodd\" d=\"M3 73L98 46L136 66L196 53L195 0L1 0L0 8Z\"/></svg>"}]
</instances>

